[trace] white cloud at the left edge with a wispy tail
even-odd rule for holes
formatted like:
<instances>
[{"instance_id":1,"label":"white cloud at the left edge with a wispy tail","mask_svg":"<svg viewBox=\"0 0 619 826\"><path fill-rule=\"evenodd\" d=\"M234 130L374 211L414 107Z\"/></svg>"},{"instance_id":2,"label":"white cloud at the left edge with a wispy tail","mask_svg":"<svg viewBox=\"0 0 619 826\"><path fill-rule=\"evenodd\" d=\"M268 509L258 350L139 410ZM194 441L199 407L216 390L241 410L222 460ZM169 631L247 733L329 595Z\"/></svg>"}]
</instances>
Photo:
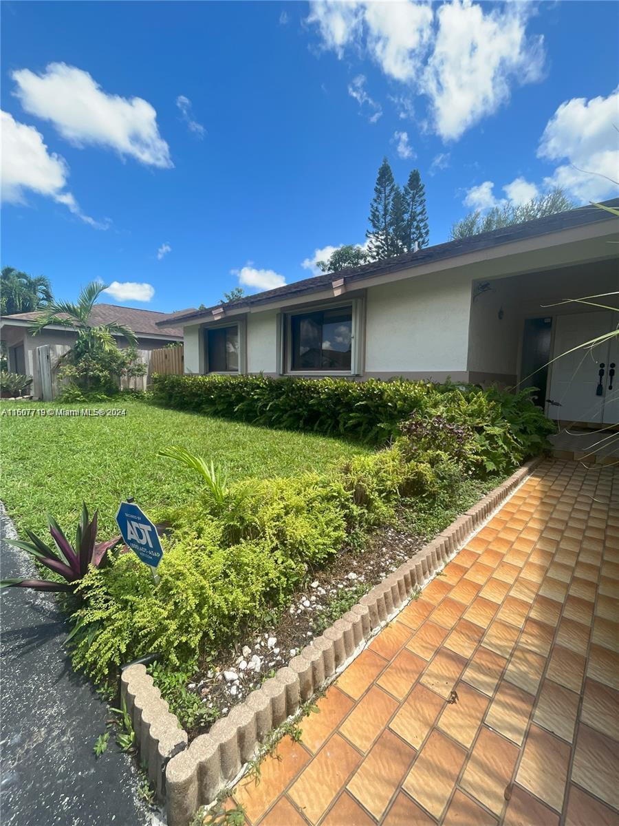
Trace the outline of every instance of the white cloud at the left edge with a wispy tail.
<instances>
[{"instance_id":1,"label":"white cloud at the left edge with a wispy tail","mask_svg":"<svg viewBox=\"0 0 619 826\"><path fill-rule=\"evenodd\" d=\"M106 229L84 215L71 192L66 190L69 166L64 158L50 152L43 135L34 126L16 121L8 112L2 112L2 201L25 203L25 190L52 198L63 204L74 216L96 229Z\"/></svg>"}]
</instances>

